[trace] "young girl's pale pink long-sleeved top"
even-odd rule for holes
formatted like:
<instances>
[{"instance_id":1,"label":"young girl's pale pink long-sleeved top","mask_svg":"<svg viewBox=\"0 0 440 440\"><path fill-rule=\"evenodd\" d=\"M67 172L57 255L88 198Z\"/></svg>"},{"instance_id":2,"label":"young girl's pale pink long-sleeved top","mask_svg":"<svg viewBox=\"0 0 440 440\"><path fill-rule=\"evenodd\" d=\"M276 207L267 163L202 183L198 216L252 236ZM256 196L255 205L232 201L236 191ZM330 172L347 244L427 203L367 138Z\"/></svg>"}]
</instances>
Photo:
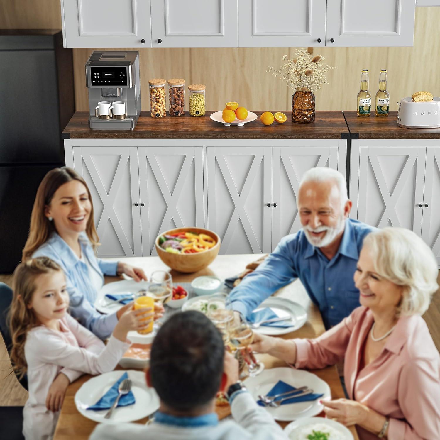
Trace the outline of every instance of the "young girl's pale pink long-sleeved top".
<instances>
[{"instance_id":1,"label":"young girl's pale pink long-sleeved top","mask_svg":"<svg viewBox=\"0 0 440 440\"><path fill-rule=\"evenodd\" d=\"M46 409L52 382L62 372L72 382L81 374L111 371L130 344L111 336L107 345L70 315L60 320L61 331L34 327L26 335L29 398L23 409L26 440L50 440L59 412Z\"/></svg>"}]
</instances>

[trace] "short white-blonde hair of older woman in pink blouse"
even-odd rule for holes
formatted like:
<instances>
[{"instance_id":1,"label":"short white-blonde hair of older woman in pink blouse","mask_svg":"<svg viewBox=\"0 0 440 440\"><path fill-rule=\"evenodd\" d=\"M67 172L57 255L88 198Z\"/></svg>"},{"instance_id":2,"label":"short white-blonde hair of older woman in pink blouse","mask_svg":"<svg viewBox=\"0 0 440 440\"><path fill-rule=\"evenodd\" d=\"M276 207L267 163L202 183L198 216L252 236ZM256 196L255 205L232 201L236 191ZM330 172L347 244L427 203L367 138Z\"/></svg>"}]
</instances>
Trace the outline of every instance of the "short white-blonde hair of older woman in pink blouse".
<instances>
[{"instance_id":1,"label":"short white-blonde hair of older woman in pink blouse","mask_svg":"<svg viewBox=\"0 0 440 440\"><path fill-rule=\"evenodd\" d=\"M439 288L437 260L429 246L413 231L402 227L370 232L363 246L368 246L374 270L404 287L397 316L423 315Z\"/></svg>"}]
</instances>

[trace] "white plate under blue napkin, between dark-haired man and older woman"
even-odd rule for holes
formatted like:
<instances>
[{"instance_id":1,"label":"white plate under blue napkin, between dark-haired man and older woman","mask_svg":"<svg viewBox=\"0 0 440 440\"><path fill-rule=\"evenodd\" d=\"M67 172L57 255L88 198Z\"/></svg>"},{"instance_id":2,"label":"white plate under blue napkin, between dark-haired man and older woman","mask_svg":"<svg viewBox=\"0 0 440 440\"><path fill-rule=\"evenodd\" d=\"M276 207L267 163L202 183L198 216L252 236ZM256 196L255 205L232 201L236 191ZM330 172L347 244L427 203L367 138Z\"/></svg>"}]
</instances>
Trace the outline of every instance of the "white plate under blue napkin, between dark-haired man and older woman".
<instances>
[{"instance_id":1,"label":"white plate under blue napkin, between dark-haired man and older woman","mask_svg":"<svg viewBox=\"0 0 440 440\"><path fill-rule=\"evenodd\" d=\"M247 378L245 385L257 401L258 395L266 395L280 380L295 388L308 386L314 394L323 394L323 396L311 402L289 403L280 405L278 408L265 407L275 420L291 422L298 418L312 417L323 411L323 404L319 403L319 400L331 399L330 387L326 382L316 374L295 368L282 367L264 370L258 376Z\"/></svg>"}]
</instances>

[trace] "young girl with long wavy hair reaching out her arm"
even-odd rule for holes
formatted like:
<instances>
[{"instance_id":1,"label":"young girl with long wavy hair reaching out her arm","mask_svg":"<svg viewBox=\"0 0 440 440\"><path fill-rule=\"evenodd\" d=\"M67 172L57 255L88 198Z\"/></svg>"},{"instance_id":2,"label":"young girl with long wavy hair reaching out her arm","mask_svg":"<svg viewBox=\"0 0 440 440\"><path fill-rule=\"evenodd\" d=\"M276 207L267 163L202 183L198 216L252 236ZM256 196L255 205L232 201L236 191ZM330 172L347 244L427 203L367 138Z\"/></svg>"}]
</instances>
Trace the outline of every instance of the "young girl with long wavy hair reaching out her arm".
<instances>
[{"instance_id":1,"label":"young girl with long wavy hair reaching out her arm","mask_svg":"<svg viewBox=\"0 0 440 440\"><path fill-rule=\"evenodd\" d=\"M101 374L116 367L130 346L127 333L147 326L150 309L125 311L104 346L67 312L66 277L48 257L18 265L11 304L11 360L28 375L29 399L23 410L26 440L49 440L64 392L81 374Z\"/></svg>"}]
</instances>

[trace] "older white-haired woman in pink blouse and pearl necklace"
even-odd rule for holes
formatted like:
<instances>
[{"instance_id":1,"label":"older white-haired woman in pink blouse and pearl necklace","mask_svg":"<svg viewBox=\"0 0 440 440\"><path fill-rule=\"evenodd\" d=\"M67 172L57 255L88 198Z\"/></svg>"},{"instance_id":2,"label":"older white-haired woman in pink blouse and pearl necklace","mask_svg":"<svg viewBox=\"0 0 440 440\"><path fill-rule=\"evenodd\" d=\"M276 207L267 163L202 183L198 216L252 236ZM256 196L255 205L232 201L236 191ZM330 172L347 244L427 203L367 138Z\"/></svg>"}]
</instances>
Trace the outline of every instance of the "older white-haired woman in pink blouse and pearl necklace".
<instances>
[{"instance_id":1,"label":"older white-haired woman in pink blouse and pearl necklace","mask_svg":"<svg viewBox=\"0 0 440 440\"><path fill-rule=\"evenodd\" d=\"M414 232L372 232L354 275L361 307L316 339L255 335L253 348L296 368L345 359L350 399L322 403L327 417L357 425L362 440L437 439L440 356L421 316L437 275L431 249Z\"/></svg>"}]
</instances>

